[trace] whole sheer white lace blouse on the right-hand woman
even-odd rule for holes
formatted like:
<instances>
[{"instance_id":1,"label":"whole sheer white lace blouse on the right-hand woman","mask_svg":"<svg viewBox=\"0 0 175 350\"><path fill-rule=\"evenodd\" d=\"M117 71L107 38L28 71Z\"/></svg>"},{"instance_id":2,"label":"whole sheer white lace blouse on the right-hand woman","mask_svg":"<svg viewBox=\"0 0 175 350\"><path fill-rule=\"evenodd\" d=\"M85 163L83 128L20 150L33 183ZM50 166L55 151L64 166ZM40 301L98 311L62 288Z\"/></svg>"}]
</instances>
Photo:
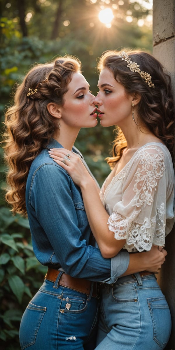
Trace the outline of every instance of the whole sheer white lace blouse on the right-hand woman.
<instances>
[{"instance_id":1,"label":"whole sheer white lace blouse on the right-hand woman","mask_svg":"<svg viewBox=\"0 0 175 350\"><path fill-rule=\"evenodd\" d=\"M126 239L124 249L163 246L174 224L175 179L167 147L157 142L142 146L104 191L105 182L100 198L110 215L109 230L116 239Z\"/></svg>"}]
</instances>

